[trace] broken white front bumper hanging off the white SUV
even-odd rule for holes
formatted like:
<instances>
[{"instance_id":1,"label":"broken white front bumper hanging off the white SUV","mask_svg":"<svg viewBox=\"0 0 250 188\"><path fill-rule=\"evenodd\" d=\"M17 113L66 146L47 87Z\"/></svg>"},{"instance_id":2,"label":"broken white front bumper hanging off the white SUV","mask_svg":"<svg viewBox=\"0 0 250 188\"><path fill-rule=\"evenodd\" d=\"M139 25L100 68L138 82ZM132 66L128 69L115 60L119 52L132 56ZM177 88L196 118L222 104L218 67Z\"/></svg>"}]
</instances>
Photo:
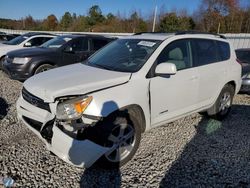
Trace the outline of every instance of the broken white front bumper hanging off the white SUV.
<instances>
[{"instance_id":1,"label":"broken white front bumper hanging off the white SUV","mask_svg":"<svg viewBox=\"0 0 250 188\"><path fill-rule=\"evenodd\" d=\"M67 135L57 126L55 115L28 103L22 96L17 101L17 114L48 150L74 166L88 168L110 149L88 139L78 140Z\"/></svg>"}]
</instances>

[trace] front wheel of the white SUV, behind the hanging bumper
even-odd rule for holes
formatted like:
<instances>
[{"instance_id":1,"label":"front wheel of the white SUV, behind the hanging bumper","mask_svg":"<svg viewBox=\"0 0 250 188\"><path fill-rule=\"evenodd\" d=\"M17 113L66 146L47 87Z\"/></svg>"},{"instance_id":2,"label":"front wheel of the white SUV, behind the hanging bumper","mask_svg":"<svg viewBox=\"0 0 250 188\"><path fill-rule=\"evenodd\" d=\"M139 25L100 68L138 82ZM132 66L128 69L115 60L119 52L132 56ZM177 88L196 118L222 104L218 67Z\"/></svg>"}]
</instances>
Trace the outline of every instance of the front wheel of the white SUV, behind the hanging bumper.
<instances>
[{"instance_id":1,"label":"front wheel of the white SUV, behind the hanging bumper","mask_svg":"<svg viewBox=\"0 0 250 188\"><path fill-rule=\"evenodd\" d=\"M124 134L119 137L122 130ZM99 131L100 144L113 148L95 163L97 166L104 169L117 169L131 160L141 140L140 125L133 114L115 113L104 120L99 126ZM121 153L118 155L117 152ZM116 155L119 158L116 158Z\"/></svg>"}]
</instances>

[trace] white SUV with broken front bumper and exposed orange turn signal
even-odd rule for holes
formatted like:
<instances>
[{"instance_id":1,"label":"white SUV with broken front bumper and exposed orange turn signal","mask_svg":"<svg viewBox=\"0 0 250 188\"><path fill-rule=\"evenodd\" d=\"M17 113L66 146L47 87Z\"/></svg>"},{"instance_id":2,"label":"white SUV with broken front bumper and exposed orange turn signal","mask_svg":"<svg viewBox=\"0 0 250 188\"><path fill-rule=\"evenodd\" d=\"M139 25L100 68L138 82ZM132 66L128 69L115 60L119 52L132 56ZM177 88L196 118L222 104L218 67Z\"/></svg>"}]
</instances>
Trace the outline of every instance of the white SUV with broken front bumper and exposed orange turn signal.
<instances>
[{"instance_id":1,"label":"white SUV with broken front bumper and exposed orange turn signal","mask_svg":"<svg viewBox=\"0 0 250 188\"><path fill-rule=\"evenodd\" d=\"M64 161L115 168L146 130L196 112L226 117L240 86L241 65L223 37L141 33L31 77L17 112Z\"/></svg>"}]
</instances>

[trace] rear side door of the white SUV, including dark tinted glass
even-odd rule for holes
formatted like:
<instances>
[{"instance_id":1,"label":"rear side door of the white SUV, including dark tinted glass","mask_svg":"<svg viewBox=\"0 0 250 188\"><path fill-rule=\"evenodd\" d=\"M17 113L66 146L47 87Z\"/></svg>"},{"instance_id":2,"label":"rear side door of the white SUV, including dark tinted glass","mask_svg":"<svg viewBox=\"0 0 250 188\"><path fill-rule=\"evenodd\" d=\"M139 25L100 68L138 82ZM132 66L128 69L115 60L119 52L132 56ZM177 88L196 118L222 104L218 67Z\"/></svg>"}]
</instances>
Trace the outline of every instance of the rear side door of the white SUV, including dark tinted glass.
<instances>
[{"instance_id":1,"label":"rear side door of the white SUV, including dark tinted glass","mask_svg":"<svg viewBox=\"0 0 250 188\"><path fill-rule=\"evenodd\" d=\"M194 39L194 66L199 74L199 106L214 102L227 77L229 45L211 39Z\"/></svg>"}]
</instances>

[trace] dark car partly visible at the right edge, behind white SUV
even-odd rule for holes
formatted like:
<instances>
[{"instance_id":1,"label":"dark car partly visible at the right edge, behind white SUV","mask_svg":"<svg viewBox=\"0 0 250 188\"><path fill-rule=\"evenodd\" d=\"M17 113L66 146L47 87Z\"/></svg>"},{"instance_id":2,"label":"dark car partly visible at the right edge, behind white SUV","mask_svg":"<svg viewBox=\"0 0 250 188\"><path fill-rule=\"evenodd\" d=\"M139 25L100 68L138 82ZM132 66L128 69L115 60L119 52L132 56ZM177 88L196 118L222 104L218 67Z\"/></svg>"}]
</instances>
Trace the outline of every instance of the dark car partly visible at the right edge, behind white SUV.
<instances>
[{"instance_id":1,"label":"dark car partly visible at the right edge, behind white SUV","mask_svg":"<svg viewBox=\"0 0 250 188\"><path fill-rule=\"evenodd\" d=\"M241 92L250 93L250 48L237 49L235 52L242 65Z\"/></svg>"}]
</instances>

